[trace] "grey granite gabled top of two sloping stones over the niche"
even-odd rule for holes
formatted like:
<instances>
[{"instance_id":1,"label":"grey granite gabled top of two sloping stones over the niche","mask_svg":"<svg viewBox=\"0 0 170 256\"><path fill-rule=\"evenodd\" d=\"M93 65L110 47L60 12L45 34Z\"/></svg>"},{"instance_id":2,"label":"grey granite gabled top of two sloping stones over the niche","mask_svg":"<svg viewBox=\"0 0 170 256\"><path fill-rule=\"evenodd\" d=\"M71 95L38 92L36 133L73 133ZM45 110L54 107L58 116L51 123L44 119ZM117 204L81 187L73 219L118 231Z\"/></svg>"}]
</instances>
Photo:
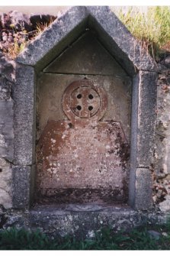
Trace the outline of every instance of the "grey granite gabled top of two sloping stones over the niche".
<instances>
[{"instance_id":1,"label":"grey granite gabled top of two sloping stones over the niche","mask_svg":"<svg viewBox=\"0 0 170 256\"><path fill-rule=\"evenodd\" d=\"M87 29L96 31L101 44L130 76L136 70L157 70L156 63L140 43L111 9L104 6L69 8L31 42L16 61L35 66L37 71L43 70Z\"/></svg>"}]
</instances>

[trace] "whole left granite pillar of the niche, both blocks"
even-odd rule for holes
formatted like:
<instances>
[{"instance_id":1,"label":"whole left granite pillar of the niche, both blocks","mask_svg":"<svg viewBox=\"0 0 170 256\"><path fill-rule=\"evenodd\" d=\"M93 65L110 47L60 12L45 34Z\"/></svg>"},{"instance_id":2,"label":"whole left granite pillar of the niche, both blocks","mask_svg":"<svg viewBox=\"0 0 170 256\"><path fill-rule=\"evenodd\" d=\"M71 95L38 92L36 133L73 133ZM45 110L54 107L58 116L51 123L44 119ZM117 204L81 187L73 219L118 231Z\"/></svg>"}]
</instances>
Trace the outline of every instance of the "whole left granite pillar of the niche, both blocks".
<instances>
[{"instance_id":1,"label":"whole left granite pillar of the niche, both blocks","mask_svg":"<svg viewBox=\"0 0 170 256\"><path fill-rule=\"evenodd\" d=\"M35 164L34 68L17 64L14 97L14 166L12 202L16 209L30 205Z\"/></svg>"}]
</instances>

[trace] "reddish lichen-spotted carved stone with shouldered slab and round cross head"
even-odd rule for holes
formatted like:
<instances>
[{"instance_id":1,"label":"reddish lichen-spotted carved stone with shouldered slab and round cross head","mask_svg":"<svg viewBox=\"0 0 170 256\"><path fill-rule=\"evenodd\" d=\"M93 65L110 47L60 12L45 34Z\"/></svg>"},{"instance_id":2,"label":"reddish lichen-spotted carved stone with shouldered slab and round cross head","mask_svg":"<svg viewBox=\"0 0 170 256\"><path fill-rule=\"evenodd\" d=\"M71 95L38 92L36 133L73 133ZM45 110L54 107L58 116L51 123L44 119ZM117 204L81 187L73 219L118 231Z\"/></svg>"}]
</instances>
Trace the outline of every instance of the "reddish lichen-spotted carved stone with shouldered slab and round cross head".
<instances>
[{"instance_id":1,"label":"reddish lichen-spotted carved stone with shouldered slab and round cross head","mask_svg":"<svg viewBox=\"0 0 170 256\"><path fill-rule=\"evenodd\" d=\"M102 122L104 89L89 79L63 95L69 121L47 123L37 145L37 190L56 202L114 202L127 197L128 144L120 122Z\"/></svg>"}]
</instances>

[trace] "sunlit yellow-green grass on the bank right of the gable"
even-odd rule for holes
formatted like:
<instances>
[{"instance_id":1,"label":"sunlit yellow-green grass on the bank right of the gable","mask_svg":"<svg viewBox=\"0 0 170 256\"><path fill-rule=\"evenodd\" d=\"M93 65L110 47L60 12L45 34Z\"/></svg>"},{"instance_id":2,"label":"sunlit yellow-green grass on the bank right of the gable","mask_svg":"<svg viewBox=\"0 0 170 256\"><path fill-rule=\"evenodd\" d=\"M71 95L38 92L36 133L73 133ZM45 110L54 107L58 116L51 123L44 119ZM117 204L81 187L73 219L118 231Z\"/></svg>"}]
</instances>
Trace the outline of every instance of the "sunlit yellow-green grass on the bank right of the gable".
<instances>
[{"instance_id":1,"label":"sunlit yellow-green grass on the bank right of the gable","mask_svg":"<svg viewBox=\"0 0 170 256\"><path fill-rule=\"evenodd\" d=\"M126 12L115 8L114 12L157 61L162 57L162 53L170 51L170 8L168 6L149 7L146 13L132 7Z\"/></svg>"}]
</instances>

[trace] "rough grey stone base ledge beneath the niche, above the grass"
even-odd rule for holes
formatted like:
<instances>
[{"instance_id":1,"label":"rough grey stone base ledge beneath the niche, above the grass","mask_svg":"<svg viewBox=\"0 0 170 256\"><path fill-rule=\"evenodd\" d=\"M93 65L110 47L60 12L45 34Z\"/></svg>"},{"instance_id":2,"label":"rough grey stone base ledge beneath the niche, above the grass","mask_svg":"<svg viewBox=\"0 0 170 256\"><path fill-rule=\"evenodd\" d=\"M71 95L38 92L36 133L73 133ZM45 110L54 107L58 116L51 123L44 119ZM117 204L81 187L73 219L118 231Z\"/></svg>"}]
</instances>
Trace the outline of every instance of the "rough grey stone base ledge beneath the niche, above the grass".
<instances>
[{"instance_id":1,"label":"rough grey stone base ledge beneath the niche, above the grass","mask_svg":"<svg viewBox=\"0 0 170 256\"><path fill-rule=\"evenodd\" d=\"M130 230L139 225L162 224L166 216L159 212L138 212L127 205L104 206L95 204L68 204L34 206L29 211L4 213L1 228L16 227L56 235L91 238L103 227L115 232Z\"/></svg>"}]
</instances>

